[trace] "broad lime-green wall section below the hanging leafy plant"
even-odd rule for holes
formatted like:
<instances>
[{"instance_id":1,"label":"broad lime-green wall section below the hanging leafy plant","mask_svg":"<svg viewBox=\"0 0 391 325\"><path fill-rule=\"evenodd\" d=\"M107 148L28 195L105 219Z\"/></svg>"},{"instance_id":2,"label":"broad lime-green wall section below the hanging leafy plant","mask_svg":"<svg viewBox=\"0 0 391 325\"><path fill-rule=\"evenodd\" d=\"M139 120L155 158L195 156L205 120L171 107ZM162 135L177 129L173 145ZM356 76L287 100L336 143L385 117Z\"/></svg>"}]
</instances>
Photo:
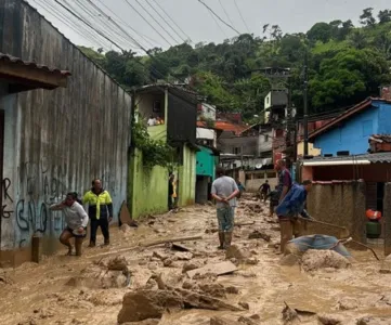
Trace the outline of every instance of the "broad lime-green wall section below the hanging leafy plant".
<instances>
[{"instance_id":1,"label":"broad lime-green wall section below the hanging leafy plant","mask_svg":"<svg viewBox=\"0 0 391 325\"><path fill-rule=\"evenodd\" d=\"M129 202L131 216L164 213L168 210L168 170L155 166L151 170L143 167L142 153L134 151L129 172Z\"/></svg>"}]
</instances>

